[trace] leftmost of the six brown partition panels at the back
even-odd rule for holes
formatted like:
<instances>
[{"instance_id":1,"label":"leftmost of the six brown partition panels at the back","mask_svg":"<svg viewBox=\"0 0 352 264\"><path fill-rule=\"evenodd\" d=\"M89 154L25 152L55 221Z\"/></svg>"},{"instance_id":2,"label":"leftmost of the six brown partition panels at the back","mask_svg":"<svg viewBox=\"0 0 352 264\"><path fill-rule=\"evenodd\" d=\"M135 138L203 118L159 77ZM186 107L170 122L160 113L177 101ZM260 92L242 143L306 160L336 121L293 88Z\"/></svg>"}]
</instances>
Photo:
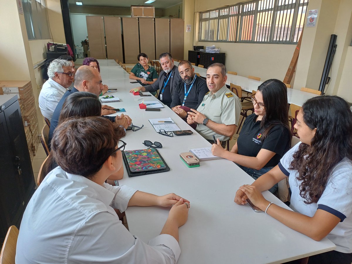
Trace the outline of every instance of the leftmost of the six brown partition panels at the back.
<instances>
[{"instance_id":1,"label":"leftmost of the six brown partition panels at the back","mask_svg":"<svg viewBox=\"0 0 352 264\"><path fill-rule=\"evenodd\" d=\"M90 56L106 59L103 17L86 16Z\"/></svg>"}]
</instances>

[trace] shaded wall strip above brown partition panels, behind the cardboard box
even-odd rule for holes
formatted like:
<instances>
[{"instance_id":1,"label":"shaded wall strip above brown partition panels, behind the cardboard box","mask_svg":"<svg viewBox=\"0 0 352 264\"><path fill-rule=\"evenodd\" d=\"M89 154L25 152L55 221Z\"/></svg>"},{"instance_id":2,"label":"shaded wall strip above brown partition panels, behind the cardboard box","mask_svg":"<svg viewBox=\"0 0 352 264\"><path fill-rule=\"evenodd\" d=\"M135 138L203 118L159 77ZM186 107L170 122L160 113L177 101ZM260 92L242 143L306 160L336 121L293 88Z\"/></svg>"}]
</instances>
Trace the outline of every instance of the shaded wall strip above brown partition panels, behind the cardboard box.
<instances>
[{"instance_id":1,"label":"shaded wall strip above brown partition panels, behind the cardboard box","mask_svg":"<svg viewBox=\"0 0 352 264\"><path fill-rule=\"evenodd\" d=\"M123 7L103 7L103 6L77 6L70 5L70 12L77 14L98 14L98 15L124 15L131 16L131 8ZM163 10L156 9L155 17L162 17Z\"/></svg>"}]
</instances>

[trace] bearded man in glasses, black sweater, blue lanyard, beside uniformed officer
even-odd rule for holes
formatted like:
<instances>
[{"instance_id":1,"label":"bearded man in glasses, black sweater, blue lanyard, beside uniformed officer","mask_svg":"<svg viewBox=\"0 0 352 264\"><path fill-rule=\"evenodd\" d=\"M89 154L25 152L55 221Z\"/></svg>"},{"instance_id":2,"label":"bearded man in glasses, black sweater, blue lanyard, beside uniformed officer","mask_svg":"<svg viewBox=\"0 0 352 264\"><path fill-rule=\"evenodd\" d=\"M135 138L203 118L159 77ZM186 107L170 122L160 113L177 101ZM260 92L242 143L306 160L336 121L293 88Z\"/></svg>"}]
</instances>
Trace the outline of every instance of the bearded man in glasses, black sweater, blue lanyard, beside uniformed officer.
<instances>
[{"instance_id":1,"label":"bearded man in glasses, black sweater, blue lanyard, beside uniformed officer","mask_svg":"<svg viewBox=\"0 0 352 264\"><path fill-rule=\"evenodd\" d=\"M182 82L178 86L178 93L172 96L170 107L187 122L187 112L190 108L198 108L209 89L206 81L194 73L194 68L189 61L181 61L178 64L178 72Z\"/></svg>"}]
</instances>

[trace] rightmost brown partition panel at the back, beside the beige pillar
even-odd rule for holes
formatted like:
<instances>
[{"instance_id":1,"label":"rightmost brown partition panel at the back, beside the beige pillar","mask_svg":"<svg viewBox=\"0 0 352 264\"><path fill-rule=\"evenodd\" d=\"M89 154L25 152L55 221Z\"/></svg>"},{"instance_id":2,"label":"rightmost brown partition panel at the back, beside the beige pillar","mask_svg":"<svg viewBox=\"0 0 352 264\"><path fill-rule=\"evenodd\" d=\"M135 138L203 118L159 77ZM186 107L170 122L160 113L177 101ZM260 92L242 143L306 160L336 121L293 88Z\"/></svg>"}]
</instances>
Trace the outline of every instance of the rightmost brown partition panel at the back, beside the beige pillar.
<instances>
[{"instance_id":1,"label":"rightmost brown partition panel at the back, beside the beige pillar","mask_svg":"<svg viewBox=\"0 0 352 264\"><path fill-rule=\"evenodd\" d=\"M184 20L170 19L170 53L172 58L183 59Z\"/></svg>"}]
</instances>

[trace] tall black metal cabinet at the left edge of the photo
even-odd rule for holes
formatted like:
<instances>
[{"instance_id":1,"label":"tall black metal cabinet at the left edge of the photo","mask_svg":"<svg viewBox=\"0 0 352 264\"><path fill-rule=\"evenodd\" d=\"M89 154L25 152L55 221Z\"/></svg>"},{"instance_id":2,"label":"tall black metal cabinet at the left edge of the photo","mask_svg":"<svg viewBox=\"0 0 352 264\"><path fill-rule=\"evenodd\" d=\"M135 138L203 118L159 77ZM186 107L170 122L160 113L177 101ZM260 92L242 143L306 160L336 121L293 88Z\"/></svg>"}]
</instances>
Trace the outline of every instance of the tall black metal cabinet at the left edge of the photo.
<instances>
[{"instance_id":1,"label":"tall black metal cabinet at the left edge of the photo","mask_svg":"<svg viewBox=\"0 0 352 264\"><path fill-rule=\"evenodd\" d=\"M17 96L0 95L0 239L19 228L34 176Z\"/></svg>"}]
</instances>

